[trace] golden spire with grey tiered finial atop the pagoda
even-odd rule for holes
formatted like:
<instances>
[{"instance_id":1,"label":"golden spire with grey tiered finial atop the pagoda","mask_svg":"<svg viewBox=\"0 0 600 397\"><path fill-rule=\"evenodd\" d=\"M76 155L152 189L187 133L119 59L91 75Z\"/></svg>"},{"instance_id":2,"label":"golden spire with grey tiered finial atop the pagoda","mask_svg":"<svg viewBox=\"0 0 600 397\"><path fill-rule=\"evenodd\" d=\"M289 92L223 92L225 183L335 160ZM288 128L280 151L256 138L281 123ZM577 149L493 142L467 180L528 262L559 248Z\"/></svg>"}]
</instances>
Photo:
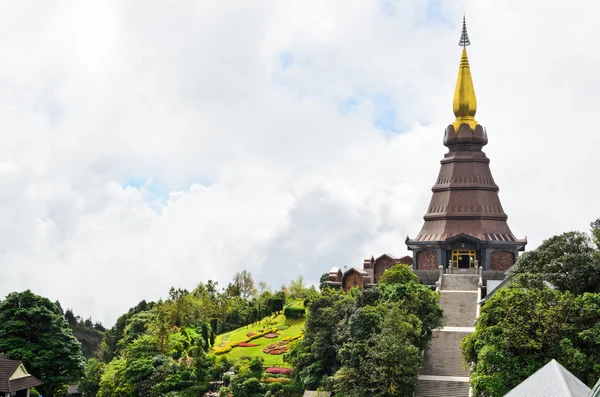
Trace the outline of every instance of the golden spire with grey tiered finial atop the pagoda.
<instances>
[{"instance_id":1,"label":"golden spire with grey tiered finial atop the pagoda","mask_svg":"<svg viewBox=\"0 0 600 397\"><path fill-rule=\"evenodd\" d=\"M467 57L467 46L471 44L467 35L467 23L463 16L463 30L458 43L463 47L462 57L460 58L460 67L458 69L458 79L456 80L456 89L454 90L453 109L456 120L452 123L454 131L458 133L461 124L467 123L472 129L478 124L475 121L475 112L477 112L477 98L475 97L475 88L471 79L471 68L469 68L469 58Z\"/></svg>"}]
</instances>

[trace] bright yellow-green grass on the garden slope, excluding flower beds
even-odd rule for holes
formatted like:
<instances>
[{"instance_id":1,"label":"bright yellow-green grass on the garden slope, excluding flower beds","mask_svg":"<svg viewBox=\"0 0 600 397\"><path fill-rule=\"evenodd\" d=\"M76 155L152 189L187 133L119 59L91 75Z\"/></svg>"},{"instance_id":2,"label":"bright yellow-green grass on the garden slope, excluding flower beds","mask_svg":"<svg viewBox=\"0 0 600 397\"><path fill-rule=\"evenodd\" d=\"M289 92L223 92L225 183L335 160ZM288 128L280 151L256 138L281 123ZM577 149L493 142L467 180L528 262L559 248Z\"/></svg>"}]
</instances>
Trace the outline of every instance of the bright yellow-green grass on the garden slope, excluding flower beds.
<instances>
[{"instance_id":1,"label":"bright yellow-green grass on the garden slope, excluding flower beds","mask_svg":"<svg viewBox=\"0 0 600 397\"><path fill-rule=\"evenodd\" d=\"M300 306L302 305L302 301L300 301ZM298 306L297 303L294 303L294 306ZM260 324L256 324L254 326L247 326L238 328L236 330L227 332L226 334L218 335L215 339L215 347L220 348L224 347L231 342L242 341L246 339L246 334L248 332L258 332L258 330L266 329L266 328L276 328L282 324L287 324L290 327L288 329L279 330L277 333L279 337L276 339L268 339L268 338L258 338L250 341L250 343L255 343L259 346L255 347L234 347L231 349L229 353L226 353L227 357L232 360L238 360L242 356L261 356L265 360L266 366L285 366L283 362L283 354L272 355L263 353L262 349L270 345L271 343L277 343L281 341L281 339L285 336L294 337L298 335L304 329L305 320L286 320L283 314L278 316L270 316L265 317Z\"/></svg>"}]
</instances>

